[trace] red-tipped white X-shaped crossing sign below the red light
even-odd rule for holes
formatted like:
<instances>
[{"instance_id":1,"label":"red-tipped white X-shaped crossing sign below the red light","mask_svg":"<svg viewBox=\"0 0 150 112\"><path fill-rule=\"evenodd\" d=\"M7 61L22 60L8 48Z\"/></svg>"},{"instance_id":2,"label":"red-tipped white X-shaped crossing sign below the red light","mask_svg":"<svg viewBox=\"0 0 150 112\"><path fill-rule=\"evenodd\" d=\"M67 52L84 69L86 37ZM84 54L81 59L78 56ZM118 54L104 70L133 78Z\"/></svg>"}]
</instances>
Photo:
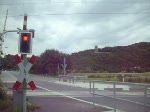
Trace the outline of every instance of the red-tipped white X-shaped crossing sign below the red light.
<instances>
[{"instance_id":1,"label":"red-tipped white X-shaped crossing sign below the red light","mask_svg":"<svg viewBox=\"0 0 150 112\"><path fill-rule=\"evenodd\" d=\"M18 55L14 56L14 59L20 69L20 75L18 77L18 80L16 81L16 83L13 86L13 90L18 90L21 83L23 82L24 78L26 79L27 83L29 84L30 88L32 90L36 89L36 85L34 84L32 78L29 76L29 70L31 69L32 65L35 63L36 61L36 56L32 56L29 60L29 62L27 63L26 66L23 65L23 62L21 61L21 58Z\"/></svg>"}]
</instances>

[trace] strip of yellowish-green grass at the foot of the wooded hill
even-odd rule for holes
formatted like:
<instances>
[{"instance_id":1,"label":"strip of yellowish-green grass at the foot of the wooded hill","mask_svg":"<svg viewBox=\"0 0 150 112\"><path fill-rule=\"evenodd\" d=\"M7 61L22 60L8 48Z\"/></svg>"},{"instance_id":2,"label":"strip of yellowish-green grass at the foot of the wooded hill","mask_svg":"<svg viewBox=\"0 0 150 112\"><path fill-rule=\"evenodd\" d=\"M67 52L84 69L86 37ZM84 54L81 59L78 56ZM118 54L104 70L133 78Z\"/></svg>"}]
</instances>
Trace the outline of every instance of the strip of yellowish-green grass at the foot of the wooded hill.
<instances>
[{"instance_id":1,"label":"strip of yellowish-green grass at the foot of the wooded hill","mask_svg":"<svg viewBox=\"0 0 150 112\"><path fill-rule=\"evenodd\" d=\"M87 80L123 81L133 83L150 83L150 73L72 73L70 75L88 76Z\"/></svg>"}]
</instances>

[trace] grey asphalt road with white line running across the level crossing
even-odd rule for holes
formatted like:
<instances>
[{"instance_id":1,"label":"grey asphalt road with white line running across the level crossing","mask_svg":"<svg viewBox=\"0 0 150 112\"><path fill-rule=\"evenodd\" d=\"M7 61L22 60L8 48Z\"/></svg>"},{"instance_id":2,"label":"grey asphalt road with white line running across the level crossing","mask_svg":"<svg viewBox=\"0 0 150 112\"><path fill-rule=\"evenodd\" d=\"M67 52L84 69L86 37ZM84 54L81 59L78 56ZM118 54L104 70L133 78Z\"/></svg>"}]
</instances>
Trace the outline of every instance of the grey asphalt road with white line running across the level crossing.
<instances>
[{"instance_id":1,"label":"grey asphalt road with white line running across the level crossing","mask_svg":"<svg viewBox=\"0 0 150 112\"><path fill-rule=\"evenodd\" d=\"M3 72L17 76L17 72ZM11 76L12 77L12 76ZM135 102L105 97L103 95L93 96L88 88L72 86L66 82L58 82L56 78L48 78L33 75L36 85L40 88L40 95L29 95L29 101L41 107L40 112L150 112L149 106ZM13 78L11 78L13 79ZM36 94L34 91L34 94ZM105 91L103 91L105 94ZM47 94L46 94L47 93ZM131 97L132 98L132 97ZM96 105L95 107L93 106ZM45 107L45 108L42 108ZM50 110L44 110L44 109ZM114 108L114 109L113 109ZM113 109L113 110L111 110Z\"/></svg>"}]
</instances>

